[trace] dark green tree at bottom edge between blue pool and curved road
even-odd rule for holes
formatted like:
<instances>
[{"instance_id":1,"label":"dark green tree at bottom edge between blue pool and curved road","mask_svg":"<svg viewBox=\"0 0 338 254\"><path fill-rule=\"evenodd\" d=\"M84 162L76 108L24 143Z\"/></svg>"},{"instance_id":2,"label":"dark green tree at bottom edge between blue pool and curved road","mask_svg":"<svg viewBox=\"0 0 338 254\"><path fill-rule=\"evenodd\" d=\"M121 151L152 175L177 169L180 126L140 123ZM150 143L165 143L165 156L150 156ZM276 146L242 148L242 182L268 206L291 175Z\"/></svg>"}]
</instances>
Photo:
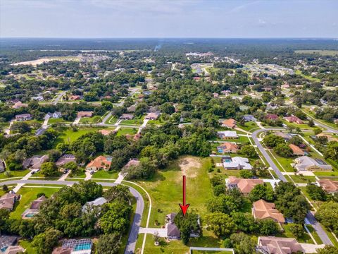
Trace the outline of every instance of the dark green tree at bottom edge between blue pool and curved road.
<instances>
[{"instance_id":1,"label":"dark green tree at bottom edge between blue pool and curved road","mask_svg":"<svg viewBox=\"0 0 338 254\"><path fill-rule=\"evenodd\" d=\"M103 234L97 242L97 253L118 254L121 247L120 234Z\"/></svg>"}]
</instances>

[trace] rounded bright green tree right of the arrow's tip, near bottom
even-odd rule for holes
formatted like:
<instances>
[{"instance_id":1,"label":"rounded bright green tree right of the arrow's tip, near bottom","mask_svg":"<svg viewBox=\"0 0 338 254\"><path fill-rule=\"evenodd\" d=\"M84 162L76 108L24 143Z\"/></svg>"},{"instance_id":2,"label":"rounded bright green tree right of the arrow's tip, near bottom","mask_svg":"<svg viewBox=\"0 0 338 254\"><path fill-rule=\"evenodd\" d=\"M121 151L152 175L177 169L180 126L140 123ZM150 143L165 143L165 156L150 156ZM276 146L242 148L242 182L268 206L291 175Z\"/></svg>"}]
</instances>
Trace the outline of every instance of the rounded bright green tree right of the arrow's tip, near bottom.
<instances>
[{"instance_id":1,"label":"rounded bright green tree right of the arrow's tip, near bottom","mask_svg":"<svg viewBox=\"0 0 338 254\"><path fill-rule=\"evenodd\" d=\"M212 230L216 236L230 236L236 225L228 214L222 212L215 212L206 215L207 229Z\"/></svg>"}]
</instances>

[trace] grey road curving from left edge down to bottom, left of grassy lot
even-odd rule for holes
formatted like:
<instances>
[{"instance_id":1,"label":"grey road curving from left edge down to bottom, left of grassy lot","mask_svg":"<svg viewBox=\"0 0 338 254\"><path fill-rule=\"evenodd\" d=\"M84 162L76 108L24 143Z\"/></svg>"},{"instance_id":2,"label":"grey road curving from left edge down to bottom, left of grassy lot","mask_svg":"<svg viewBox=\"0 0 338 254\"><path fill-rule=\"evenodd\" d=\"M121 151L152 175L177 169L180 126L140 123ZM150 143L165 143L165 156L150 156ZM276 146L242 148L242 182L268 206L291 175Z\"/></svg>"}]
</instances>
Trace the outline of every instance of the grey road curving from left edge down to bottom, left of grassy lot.
<instances>
[{"instance_id":1,"label":"grey road curving from left edge down to bottom, left of grassy lot","mask_svg":"<svg viewBox=\"0 0 338 254\"><path fill-rule=\"evenodd\" d=\"M55 185L67 185L72 186L74 183L78 183L78 181L46 181L46 180L8 180L8 181L0 181L0 186L4 185L13 185L18 183L25 184L55 184ZM96 182L104 187L112 187L117 185L118 183L105 183L105 182ZM134 196L137 201L136 210L134 214L134 220L132 222L132 229L130 229L129 238L127 241L127 245L125 246L125 254L134 253L136 247L137 236L139 234L139 226L141 225L142 214L144 210L144 200L142 195L135 190L134 188L129 187L130 193Z\"/></svg>"}]
</instances>

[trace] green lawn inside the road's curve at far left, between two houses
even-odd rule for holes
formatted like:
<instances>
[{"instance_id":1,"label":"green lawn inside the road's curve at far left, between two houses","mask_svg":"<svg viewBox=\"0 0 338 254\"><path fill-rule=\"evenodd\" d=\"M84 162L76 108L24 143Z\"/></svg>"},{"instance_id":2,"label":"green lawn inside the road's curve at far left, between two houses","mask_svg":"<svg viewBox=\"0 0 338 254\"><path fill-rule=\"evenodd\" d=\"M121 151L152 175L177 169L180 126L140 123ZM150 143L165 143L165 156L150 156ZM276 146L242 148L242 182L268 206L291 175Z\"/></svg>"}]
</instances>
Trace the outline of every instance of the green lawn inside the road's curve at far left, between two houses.
<instances>
[{"instance_id":1,"label":"green lawn inside the road's curve at far left, between two houses","mask_svg":"<svg viewBox=\"0 0 338 254\"><path fill-rule=\"evenodd\" d=\"M37 199L38 193L46 194L47 198L50 198L53 193L58 191L59 188L32 188L32 187L23 187L20 188L18 194L21 195L21 198L18 202L15 202L15 208L13 212L11 212L11 218L20 219L21 214L25 212L27 208L30 207L30 203L33 200Z\"/></svg>"}]
</instances>

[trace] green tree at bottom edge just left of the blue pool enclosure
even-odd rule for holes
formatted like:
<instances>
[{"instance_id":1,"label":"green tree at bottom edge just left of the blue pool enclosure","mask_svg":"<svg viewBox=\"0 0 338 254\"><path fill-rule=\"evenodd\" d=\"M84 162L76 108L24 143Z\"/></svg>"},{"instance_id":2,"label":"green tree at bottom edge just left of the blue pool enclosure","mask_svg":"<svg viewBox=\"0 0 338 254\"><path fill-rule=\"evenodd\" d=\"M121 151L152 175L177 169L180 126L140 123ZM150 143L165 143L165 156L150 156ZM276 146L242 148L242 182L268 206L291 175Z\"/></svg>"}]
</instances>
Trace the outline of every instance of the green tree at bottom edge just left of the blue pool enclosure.
<instances>
[{"instance_id":1,"label":"green tree at bottom edge just left of the blue pool enclosure","mask_svg":"<svg viewBox=\"0 0 338 254\"><path fill-rule=\"evenodd\" d=\"M44 233L38 234L32 241L32 246L36 248L38 254L49 254L58 244L62 232L56 229L47 229Z\"/></svg>"}]
</instances>

